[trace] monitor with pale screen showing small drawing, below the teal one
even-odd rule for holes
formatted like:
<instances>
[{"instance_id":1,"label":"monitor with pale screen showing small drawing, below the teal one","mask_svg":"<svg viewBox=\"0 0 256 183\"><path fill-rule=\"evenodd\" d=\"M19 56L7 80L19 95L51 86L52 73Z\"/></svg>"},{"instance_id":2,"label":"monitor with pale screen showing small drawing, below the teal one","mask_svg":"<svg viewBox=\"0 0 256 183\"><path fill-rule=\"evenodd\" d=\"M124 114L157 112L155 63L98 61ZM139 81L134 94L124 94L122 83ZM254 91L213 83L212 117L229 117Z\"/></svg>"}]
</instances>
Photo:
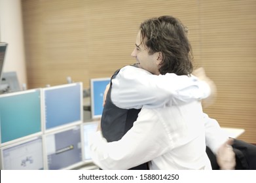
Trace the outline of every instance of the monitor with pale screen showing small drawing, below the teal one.
<instances>
[{"instance_id":1,"label":"monitor with pale screen showing small drawing, below the teal one","mask_svg":"<svg viewBox=\"0 0 256 183\"><path fill-rule=\"evenodd\" d=\"M1 169L3 170L42 170L43 142L35 137L1 148Z\"/></svg>"}]
</instances>

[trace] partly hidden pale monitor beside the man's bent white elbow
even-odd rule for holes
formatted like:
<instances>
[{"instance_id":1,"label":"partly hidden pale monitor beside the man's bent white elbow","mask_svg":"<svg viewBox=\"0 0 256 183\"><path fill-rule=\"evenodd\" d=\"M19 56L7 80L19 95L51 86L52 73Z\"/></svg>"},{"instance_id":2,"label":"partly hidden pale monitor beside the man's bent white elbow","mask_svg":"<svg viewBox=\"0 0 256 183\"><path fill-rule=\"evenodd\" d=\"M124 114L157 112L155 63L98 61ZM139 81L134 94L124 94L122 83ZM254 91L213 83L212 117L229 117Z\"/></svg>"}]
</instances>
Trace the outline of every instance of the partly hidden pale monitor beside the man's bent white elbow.
<instances>
[{"instance_id":1,"label":"partly hidden pale monitor beside the man's bent white elbow","mask_svg":"<svg viewBox=\"0 0 256 183\"><path fill-rule=\"evenodd\" d=\"M84 132L84 160L91 161L90 156L90 147L89 147L89 137L92 133L96 132L99 122L85 122L83 124L83 132Z\"/></svg>"}]
</instances>

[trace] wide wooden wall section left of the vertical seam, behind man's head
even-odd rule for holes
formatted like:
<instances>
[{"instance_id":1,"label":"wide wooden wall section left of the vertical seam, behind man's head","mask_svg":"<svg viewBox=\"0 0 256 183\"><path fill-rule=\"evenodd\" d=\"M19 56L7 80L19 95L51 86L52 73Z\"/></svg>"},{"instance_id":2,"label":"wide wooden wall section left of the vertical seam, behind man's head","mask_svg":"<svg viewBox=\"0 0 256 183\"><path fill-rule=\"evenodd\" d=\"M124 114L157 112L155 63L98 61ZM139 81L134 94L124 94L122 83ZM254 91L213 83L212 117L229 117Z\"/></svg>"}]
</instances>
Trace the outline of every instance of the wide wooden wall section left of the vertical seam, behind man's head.
<instances>
[{"instance_id":1,"label":"wide wooden wall section left of the vertical seam, behind man's head","mask_svg":"<svg viewBox=\"0 0 256 183\"><path fill-rule=\"evenodd\" d=\"M29 88L60 84L67 76L88 88L90 78L111 76L134 63L130 54L139 24L153 16L187 20L196 35L196 1L147 1L144 6L145 1L22 1Z\"/></svg>"}]
</instances>

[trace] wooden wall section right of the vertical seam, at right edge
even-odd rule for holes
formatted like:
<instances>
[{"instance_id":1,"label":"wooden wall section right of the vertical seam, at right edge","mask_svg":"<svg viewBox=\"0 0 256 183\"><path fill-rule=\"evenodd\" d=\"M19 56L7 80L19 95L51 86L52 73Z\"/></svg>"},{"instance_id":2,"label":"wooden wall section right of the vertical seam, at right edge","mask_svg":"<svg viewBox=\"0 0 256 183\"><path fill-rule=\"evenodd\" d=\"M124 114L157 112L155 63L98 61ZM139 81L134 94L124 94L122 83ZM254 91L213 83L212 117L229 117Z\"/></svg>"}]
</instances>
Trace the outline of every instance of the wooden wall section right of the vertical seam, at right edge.
<instances>
[{"instance_id":1,"label":"wooden wall section right of the vertical seam, at right edge","mask_svg":"<svg viewBox=\"0 0 256 183\"><path fill-rule=\"evenodd\" d=\"M256 142L256 1L200 1L202 66L217 85L205 111L223 127L246 129Z\"/></svg>"}]
</instances>

